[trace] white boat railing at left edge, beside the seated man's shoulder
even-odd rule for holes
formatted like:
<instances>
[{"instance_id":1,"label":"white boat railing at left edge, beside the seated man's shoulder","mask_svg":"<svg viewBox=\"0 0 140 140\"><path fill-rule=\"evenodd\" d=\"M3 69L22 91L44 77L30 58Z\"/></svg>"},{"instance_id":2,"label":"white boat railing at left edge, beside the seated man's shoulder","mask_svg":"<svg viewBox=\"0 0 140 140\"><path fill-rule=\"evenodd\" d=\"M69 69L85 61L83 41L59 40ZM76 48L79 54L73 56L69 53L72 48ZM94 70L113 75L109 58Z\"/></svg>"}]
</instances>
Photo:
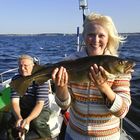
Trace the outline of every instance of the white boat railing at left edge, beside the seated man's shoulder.
<instances>
[{"instance_id":1,"label":"white boat railing at left edge, beside the seated man's shoulder","mask_svg":"<svg viewBox=\"0 0 140 140\"><path fill-rule=\"evenodd\" d=\"M0 89L9 86L11 77L13 77L17 72L18 68L13 68L0 73Z\"/></svg>"}]
</instances>

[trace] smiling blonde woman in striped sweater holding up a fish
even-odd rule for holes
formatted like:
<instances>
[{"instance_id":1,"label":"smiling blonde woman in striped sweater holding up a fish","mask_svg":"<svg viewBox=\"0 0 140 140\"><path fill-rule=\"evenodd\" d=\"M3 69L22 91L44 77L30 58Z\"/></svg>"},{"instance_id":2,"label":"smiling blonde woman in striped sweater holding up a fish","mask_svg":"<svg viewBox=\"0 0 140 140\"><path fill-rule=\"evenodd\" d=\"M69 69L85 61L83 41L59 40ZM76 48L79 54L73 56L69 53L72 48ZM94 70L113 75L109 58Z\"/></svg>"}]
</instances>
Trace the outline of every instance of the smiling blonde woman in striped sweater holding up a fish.
<instances>
[{"instance_id":1,"label":"smiling blonde woman in striped sweater holding up a fish","mask_svg":"<svg viewBox=\"0 0 140 140\"><path fill-rule=\"evenodd\" d=\"M115 55L124 38L119 36L112 19L91 13L83 25L86 47L68 59L94 55ZM83 66L84 67L84 66ZM70 111L66 140L119 140L120 119L127 114L130 104L131 74L108 75L93 64L89 70L89 83L69 81L64 67L56 68L52 79L56 85L56 102ZM68 90L69 88L69 90Z\"/></svg>"}]
</instances>

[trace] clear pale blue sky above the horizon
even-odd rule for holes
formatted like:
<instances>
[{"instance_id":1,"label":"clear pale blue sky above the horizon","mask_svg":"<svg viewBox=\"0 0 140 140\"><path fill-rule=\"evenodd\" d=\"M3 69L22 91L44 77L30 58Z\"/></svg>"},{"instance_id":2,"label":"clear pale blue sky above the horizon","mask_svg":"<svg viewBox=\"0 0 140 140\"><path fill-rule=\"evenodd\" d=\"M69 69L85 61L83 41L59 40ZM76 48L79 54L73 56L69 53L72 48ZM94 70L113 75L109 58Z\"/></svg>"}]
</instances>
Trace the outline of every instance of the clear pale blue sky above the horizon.
<instances>
[{"instance_id":1,"label":"clear pale blue sky above the horizon","mask_svg":"<svg viewBox=\"0 0 140 140\"><path fill-rule=\"evenodd\" d=\"M140 0L87 0L86 14L111 16L118 32L140 32ZM82 32L79 0L0 0L0 34Z\"/></svg>"}]
</instances>

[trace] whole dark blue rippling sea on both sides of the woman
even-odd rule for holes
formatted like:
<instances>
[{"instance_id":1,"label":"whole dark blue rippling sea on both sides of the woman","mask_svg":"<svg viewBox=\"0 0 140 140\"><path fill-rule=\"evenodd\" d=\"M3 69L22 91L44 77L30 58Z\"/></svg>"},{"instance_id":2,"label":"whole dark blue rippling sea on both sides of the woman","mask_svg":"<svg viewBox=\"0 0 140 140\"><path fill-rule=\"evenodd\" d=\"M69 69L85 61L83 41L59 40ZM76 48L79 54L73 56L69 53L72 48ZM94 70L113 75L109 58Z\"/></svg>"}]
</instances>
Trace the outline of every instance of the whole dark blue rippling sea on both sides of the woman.
<instances>
[{"instance_id":1,"label":"whole dark blue rippling sea on both sides of the woman","mask_svg":"<svg viewBox=\"0 0 140 140\"><path fill-rule=\"evenodd\" d=\"M140 33L123 33L126 42L119 48L120 57L135 61L131 79L132 104L127 117L140 127ZM81 38L81 37L80 37ZM29 54L41 64L61 61L77 51L76 34L0 35L0 73L17 67L17 58ZM133 136L140 132L126 126Z\"/></svg>"}]
</instances>

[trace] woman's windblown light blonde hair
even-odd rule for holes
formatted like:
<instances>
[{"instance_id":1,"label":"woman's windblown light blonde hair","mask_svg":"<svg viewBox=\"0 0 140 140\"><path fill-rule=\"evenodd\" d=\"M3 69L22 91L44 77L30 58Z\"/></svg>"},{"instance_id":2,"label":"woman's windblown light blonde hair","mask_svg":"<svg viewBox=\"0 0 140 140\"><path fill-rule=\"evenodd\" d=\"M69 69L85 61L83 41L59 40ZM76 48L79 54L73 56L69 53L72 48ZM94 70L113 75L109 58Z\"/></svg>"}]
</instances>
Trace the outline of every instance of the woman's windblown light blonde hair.
<instances>
[{"instance_id":1,"label":"woman's windblown light blonde hair","mask_svg":"<svg viewBox=\"0 0 140 140\"><path fill-rule=\"evenodd\" d=\"M83 24L83 37L86 34L86 28L89 23L95 23L99 24L108 31L108 44L107 44L107 50L112 54L112 55L117 55L117 51L119 48L120 43L123 43L126 38L123 36L119 35L116 27L109 16L101 15L101 14L96 14L96 13L91 13L86 16L84 24Z\"/></svg>"}]
</instances>

